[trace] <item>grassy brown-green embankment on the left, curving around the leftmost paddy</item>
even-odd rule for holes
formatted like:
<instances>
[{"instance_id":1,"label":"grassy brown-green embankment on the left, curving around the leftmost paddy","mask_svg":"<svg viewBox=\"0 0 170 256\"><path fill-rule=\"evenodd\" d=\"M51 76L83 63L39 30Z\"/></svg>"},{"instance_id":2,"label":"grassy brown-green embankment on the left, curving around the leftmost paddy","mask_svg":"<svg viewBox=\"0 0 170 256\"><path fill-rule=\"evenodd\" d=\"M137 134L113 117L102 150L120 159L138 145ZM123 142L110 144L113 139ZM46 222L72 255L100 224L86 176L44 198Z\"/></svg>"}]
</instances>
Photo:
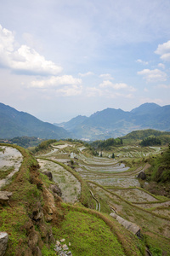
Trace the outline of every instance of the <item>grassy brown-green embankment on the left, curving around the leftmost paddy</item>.
<instances>
[{"instance_id":1,"label":"grassy brown-green embankment on the left, curving around the leftmost paddy","mask_svg":"<svg viewBox=\"0 0 170 256\"><path fill-rule=\"evenodd\" d=\"M5 145L5 144L1 144ZM40 190L32 176L32 171L37 170L37 160L31 156L24 148L8 145L17 148L23 155L20 171L13 177L13 182L3 190L13 192L13 200L10 206L0 207L1 231L6 231L9 236L8 250L6 255L22 255L27 248L26 223L29 222L32 207L37 201L42 200ZM37 172L38 176L38 172ZM37 179L38 183L38 179ZM20 242L22 241L22 242Z\"/></svg>"}]
</instances>

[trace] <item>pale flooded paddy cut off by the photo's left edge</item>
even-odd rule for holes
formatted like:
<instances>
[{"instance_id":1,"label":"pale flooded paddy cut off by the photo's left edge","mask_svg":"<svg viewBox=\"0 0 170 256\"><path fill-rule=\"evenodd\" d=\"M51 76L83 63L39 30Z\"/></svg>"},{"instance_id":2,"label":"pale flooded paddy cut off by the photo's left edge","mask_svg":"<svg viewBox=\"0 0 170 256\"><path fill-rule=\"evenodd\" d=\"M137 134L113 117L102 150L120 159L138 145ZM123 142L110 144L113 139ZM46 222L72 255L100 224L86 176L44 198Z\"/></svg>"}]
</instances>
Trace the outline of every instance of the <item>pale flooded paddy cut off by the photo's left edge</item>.
<instances>
[{"instance_id":1,"label":"pale flooded paddy cut off by the photo's left edge","mask_svg":"<svg viewBox=\"0 0 170 256\"><path fill-rule=\"evenodd\" d=\"M4 185L10 183L11 177L13 177L15 172L18 172L20 169L20 164L22 162L22 154L16 148L11 147L1 147L4 150L0 151L0 170L8 170L10 167L14 167L14 171L10 172L6 178L0 180L0 189Z\"/></svg>"}]
</instances>

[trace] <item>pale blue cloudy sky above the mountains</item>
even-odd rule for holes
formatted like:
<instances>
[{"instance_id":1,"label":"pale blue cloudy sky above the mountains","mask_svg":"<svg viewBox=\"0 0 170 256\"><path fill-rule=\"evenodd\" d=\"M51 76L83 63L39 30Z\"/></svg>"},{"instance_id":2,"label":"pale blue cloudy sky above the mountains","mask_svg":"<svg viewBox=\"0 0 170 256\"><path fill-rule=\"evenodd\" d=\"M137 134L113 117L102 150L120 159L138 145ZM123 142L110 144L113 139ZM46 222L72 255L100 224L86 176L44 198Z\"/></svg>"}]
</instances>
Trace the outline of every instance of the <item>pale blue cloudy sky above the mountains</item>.
<instances>
[{"instance_id":1,"label":"pale blue cloudy sky above the mountains","mask_svg":"<svg viewBox=\"0 0 170 256\"><path fill-rule=\"evenodd\" d=\"M170 104L169 0L0 0L0 102L60 123Z\"/></svg>"}]
</instances>

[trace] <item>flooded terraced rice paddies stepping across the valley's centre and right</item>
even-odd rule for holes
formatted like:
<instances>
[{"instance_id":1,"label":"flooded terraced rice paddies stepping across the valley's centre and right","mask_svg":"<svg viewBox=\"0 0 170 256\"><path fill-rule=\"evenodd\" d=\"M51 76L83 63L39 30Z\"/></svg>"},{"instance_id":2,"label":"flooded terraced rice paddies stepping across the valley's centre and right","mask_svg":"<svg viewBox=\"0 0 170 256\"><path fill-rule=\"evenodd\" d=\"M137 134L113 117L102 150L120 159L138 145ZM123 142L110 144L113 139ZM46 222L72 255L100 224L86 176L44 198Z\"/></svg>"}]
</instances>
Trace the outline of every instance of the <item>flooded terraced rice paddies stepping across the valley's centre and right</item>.
<instances>
[{"instance_id":1,"label":"flooded terraced rice paddies stepping across the valley's centre and right","mask_svg":"<svg viewBox=\"0 0 170 256\"><path fill-rule=\"evenodd\" d=\"M135 150L134 150L135 149ZM138 150L137 150L138 149ZM124 150L124 151L123 151ZM145 152L144 152L145 150ZM48 160L38 160L42 169L51 171L54 181L62 190L62 198L68 203L79 201L81 183L64 167L50 162L59 161L71 166L86 183L90 191L94 209L101 212L116 212L122 218L138 224L142 234L157 241L158 247L165 247L170 255L170 200L156 197L140 188L138 173L149 167L147 163L130 168L123 163L127 158L143 158L144 155L157 154L161 148L147 148L139 151L136 147L117 150L116 159L109 157L88 157L86 148L81 145L65 143L55 146ZM119 151L119 152L118 152Z\"/></svg>"}]
</instances>

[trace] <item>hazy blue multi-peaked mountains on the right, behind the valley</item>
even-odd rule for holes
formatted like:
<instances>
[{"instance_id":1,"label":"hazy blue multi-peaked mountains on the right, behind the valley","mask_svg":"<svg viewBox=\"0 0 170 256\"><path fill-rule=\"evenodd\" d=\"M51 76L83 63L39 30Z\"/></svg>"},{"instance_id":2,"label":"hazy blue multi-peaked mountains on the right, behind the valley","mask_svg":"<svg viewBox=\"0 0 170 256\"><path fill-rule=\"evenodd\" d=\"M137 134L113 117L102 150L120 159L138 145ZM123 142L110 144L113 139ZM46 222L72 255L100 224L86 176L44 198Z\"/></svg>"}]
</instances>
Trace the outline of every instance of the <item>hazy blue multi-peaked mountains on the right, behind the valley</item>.
<instances>
[{"instance_id":1,"label":"hazy blue multi-peaked mountains on the right, behind the valley","mask_svg":"<svg viewBox=\"0 0 170 256\"><path fill-rule=\"evenodd\" d=\"M57 125L71 132L73 137L88 140L122 137L131 131L149 128L170 131L170 105L144 103L130 112L106 108L90 117L79 115Z\"/></svg>"}]
</instances>

